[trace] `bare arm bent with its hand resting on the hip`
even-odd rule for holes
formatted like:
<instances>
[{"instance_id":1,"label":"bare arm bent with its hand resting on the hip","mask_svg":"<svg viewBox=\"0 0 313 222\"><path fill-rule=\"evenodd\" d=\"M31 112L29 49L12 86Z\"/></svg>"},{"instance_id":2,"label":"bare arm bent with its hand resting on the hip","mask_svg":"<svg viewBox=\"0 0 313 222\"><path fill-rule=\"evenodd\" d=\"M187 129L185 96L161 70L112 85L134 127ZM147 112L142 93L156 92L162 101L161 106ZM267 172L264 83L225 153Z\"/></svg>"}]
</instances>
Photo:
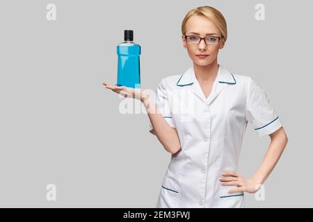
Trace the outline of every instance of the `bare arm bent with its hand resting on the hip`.
<instances>
[{"instance_id":1,"label":"bare arm bent with its hand resting on the hip","mask_svg":"<svg viewBox=\"0 0 313 222\"><path fill-rule=\"evenodd\" d=\"M236 185L238 187L231 189L229 193L237 191L255 193L260 185L265 182L266 178L268 178L288 142L287 135L282 127L274 133L271 133L270 137L271 144L268 146L268 150L266 151L266 155L264 156L259 169L257 169L252 178L245 179L238 173L232 171L223 172L223 177L220 178L222 185Z\"/></svg>"}]
</instances>

